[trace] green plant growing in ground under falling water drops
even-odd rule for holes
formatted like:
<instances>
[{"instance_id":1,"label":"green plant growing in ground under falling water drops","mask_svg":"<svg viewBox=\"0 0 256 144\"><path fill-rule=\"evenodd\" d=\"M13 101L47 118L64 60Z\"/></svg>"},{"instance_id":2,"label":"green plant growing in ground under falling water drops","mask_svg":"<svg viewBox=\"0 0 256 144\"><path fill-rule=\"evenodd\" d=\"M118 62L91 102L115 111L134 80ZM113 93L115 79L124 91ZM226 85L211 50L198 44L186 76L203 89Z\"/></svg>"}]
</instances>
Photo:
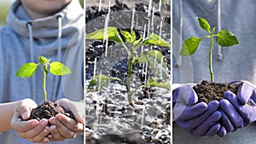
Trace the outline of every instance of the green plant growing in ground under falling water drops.
<instances>
[{"instance_id":1,"label":"green plant growing in ground under falling water drops","mask_svg":"<svg viewBox=\"0 0 256 144\"><path fill-rule=\"evenodd\" d=\"M126 81L123 81L121 78L108 77L106 75L100 74L96 75L95 78L92 78L90 80L88 89L92 89L92 91L101 90L103 86L108 85L112 80L117 80L121 84L125 85L129 105L131 107L134 107L134 104L131 99L131 96L135 92L135 90L131 90L131 72L134 63L148 63L148 66L151 66L153 68L156 75L164 73L161 74L162 78L148 78L148 82L142 86L154 86L170 89L170 84L168 82L165 82L168 76L167 72L160 72L160 68L157 67L157 64L163 63L162 69L167 69L166 63L161 62L161 60L165 59L164 56L160 53L160 51L149 50L148 52L138 53L137 49L139 49L143 45L171 48L171 44L166 42L156 34L149 34L148 37L146 38L143 38L142 36L136 38L136 35L136 32L134 32L134 30L132 29L130 32L122 30L118 31L116 27L108 27L107 29L97 30L86 35L86 39L92 40L103 40L107 36L106 39L108 39L108 41L119 43L125 49L128 59L128 72L126 76Z\"/></svg>"}]
</instances>

